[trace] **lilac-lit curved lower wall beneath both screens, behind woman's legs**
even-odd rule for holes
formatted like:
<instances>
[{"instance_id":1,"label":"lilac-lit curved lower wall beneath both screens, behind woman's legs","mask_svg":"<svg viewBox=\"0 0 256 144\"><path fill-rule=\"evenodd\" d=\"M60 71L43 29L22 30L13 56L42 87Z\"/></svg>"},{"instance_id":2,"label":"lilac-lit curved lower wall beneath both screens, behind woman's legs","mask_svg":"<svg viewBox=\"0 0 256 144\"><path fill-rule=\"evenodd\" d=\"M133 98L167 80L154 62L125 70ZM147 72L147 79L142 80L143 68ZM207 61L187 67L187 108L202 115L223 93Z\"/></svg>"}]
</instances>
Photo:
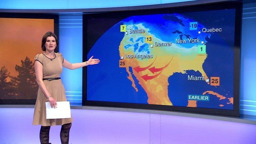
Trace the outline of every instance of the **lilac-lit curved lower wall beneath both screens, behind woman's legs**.
<instances>
[{"instance_id":1,"label":"lilac-lit curved lower wall beneath both screens, behind woman's legs","mask_svg":"<svg viewBox=\"0 0 256 144\"><path fill-rule=\"evenodd\" d=\"M0 144L39 144L30 108L0 108ZM82 106L81 106L82 107ZM87 107L71 109L70 144L255 144L256 122L229 117ZM128 111L125 111L128 110ZM149 112L149 113L147 113ZM50 142L60 144L61 126Z\"/></svg>"}]
</instances>

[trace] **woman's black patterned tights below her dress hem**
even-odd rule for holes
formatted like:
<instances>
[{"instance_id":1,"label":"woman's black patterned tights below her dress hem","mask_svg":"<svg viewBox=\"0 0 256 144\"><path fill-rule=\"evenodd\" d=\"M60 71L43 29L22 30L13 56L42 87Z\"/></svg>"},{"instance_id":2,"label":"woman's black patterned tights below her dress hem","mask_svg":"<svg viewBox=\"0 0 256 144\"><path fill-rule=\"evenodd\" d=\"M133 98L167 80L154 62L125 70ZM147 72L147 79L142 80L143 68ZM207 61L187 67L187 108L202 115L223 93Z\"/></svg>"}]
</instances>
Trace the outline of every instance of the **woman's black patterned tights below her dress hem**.
<instances>
[{"instance_id":1,"label":"woman's black patterned tights below her dress hem","mask_svg":"<svg viewBox=\"0 0 256 144\"><path fill-rule=\"evenodd\" d=\"M60 141L61 144L68 144L69 143L69 131L71 128L71 123L64 124L61 126L60 130ZM40 129L40 142L41 144L49 144L49 131L51 126L41 126Z\"/></svg>"}]
</instances>

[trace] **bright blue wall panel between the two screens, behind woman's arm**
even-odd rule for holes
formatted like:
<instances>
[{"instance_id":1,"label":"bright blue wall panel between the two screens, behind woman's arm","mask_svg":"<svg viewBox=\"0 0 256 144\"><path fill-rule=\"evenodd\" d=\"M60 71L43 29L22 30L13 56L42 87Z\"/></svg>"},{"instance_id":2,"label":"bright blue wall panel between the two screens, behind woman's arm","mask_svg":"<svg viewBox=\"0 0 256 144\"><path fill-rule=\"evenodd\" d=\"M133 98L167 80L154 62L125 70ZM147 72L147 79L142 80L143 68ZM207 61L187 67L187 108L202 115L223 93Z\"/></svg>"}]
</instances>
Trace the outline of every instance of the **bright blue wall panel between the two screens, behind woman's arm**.
<instances>
[{"instance_id":1,"label":"bright blue wall panel between the two screens, behind woman's arm","mask_svg":"<svg viewBox=\"0 0 256 144\"><path fill-rule=\"evenodd\" d=\"M79 15L59 17L60 53L70 63L83 60L82 13ZM82 68L64 68L61 79L71 105L82 105Z\"/></svg>"}]
</instances>

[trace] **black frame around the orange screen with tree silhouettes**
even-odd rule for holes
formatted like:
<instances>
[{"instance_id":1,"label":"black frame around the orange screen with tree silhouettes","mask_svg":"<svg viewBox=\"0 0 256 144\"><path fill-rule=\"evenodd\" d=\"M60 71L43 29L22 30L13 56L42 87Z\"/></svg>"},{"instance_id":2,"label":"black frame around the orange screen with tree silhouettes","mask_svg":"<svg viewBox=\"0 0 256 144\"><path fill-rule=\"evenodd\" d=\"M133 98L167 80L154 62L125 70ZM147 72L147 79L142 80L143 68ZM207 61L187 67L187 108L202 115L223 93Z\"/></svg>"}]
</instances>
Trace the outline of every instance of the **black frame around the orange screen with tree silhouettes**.
<instances>
[{"instance_id":1,"label":"black frame around the orange screen with tree silhouettes","mask_svg":"<svg viewBox=\"0 0 256 144\"><path fill-rule=\"evenodd\" d=\"M0 13L0 18L30 18L30 19L54 19L54 33L59 39L59 15L39 13ZM43 37L43 35L42 35ZM54 52L59 52L59 48ZM0 99L0 104L26 105L35 104L36 99Z\"/></svg>"}]
</instances>

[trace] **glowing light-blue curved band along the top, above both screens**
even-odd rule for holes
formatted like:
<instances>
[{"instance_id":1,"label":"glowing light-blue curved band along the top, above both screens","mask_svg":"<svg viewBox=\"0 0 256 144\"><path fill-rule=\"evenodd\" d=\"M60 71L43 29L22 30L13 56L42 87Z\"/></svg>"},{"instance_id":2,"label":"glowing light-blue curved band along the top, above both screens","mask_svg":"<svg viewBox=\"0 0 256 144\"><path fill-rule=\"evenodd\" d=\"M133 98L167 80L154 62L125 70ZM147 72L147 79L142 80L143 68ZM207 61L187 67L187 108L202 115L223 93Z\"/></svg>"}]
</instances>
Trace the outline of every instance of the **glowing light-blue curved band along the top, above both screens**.
<instances>
[{"instance_id":1,"label":"glowing light-blue curved band along the top, above both screens","mask_svg":"<svg viewBox=\"0 0 256 144\"><path fill-rule=\"evenodd\" d=\"M1 0L0 9L92 9L92 8L114 8L123 6L152 5L162 3L184 2L191 0Z\"/></svg>"}]
</instances>

